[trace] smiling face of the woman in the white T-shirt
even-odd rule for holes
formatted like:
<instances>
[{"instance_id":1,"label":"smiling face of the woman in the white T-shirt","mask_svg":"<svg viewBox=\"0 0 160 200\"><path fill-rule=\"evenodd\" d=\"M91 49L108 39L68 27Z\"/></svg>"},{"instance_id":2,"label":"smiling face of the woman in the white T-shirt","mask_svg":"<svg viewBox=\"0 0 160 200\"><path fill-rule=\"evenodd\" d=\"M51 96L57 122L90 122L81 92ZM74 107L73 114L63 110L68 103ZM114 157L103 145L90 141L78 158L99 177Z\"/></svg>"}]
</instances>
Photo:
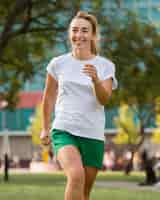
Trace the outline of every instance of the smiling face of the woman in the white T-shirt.
<instances>
[{"instance_id":1,"label":"smiling face of the woman in the white T-shirt","mask_svg":"<svg viewBox=\"0 0 160 200\"><path fill-rule=\"evenodd\" d=\"M82 18L73 19L69 29L69 39L73 49L91 50L91 40L94 39L91 23Z\"/></svg>"}]
</instances>

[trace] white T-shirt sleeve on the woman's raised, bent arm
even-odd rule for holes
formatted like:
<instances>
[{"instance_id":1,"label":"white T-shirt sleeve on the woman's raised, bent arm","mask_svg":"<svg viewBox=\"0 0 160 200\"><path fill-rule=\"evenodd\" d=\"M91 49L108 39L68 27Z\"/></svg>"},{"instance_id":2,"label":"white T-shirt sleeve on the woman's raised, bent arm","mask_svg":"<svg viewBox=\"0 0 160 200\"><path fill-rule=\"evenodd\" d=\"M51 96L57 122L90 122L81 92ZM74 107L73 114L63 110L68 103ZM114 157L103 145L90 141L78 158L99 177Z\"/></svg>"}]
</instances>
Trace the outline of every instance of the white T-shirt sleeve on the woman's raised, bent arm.
<instances>
[{"instance_id":1,"label":"white T-shirt sleeve on the woman's raised, bent arm","mask_svg":"<svg viewBox=\"0 0 160 200\"><path fill-rule=\"evenodd\" d=\"M105 69L103 71L103 76L102 76L102 80L106 80L112 78L113 80L113 86L112 89L116 89L118 86L118 81L115 77L115 65L113 63L110 63L108 65L105 66Z\"/></svg>"}]
</instances>

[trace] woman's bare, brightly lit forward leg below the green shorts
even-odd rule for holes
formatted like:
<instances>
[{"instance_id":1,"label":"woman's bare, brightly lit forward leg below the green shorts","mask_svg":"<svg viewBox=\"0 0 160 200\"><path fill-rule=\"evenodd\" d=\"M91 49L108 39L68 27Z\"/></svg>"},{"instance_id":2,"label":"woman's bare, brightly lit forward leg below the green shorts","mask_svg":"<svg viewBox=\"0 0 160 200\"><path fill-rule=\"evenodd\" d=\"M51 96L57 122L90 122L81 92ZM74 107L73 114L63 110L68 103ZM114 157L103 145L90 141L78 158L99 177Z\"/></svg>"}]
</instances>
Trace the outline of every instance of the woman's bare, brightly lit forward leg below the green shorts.
<instances>
[{"instance_id":1,"label":"woman's bare, brightly lit forward leg below the green shorts","mask_svg":"<svg viewBox=\"0 0 160 200\"><path fill-rule=\"evenodd\" d=\"M65 200L83 200L85 173L78 149L72 145L62 147L58 160L67 176Z\"/></svg>"}]
</instances>

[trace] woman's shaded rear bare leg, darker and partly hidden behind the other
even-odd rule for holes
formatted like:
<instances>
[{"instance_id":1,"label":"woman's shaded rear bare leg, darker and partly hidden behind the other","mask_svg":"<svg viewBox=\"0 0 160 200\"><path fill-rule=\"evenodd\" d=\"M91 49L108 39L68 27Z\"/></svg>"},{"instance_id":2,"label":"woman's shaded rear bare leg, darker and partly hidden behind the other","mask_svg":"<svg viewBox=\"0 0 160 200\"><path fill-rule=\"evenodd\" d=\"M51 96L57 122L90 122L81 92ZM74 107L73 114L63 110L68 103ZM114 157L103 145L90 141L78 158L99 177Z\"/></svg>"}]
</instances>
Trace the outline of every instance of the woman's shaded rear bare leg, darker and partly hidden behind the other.
<instances>
[{"instance_id":1,"label":"woman's shaded rear bare leg, darker and partly hidden behind the other","mask_svg":"<svg viewBox=\"0 0 160 200\"><path fill-rule=\"evenodd\" d=\"M89 200L89 195L96 179L97 172L97 168L85 167L84 200Z\"/></svg>"}]
</instances>

